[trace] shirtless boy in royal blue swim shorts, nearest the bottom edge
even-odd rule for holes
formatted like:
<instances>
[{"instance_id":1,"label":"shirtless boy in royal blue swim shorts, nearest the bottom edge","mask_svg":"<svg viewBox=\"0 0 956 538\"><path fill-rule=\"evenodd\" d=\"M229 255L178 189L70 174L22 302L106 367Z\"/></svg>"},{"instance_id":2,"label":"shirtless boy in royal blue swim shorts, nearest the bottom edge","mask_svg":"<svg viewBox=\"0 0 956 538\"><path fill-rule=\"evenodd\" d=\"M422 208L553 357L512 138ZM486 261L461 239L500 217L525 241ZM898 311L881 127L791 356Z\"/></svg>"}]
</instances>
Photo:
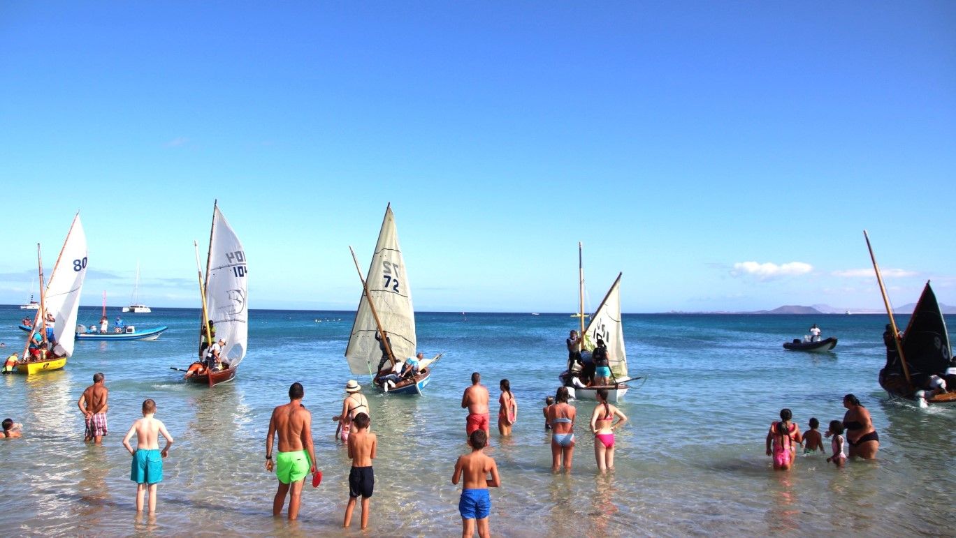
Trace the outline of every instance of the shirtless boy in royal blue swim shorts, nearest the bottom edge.
<instances>
[{"instance_id":1,"label":"shirtless boy in royal blue swim shorts, nearest the bottom edge","mask_svg":"<svg viewBox=\"0 0 956 538\"><path fill-rule=\"evenodd\" d=\"M462 514L462 535L472 536L475 523L478 524L478 535L489 536L488 517L491 512L491 496L489 487L501 486L498 478L498 466L493 458L485 455L485 445L488 445L488 435L483 429L476 429L468 436L468 445L471 453L459 456L455 463L455 473L451 476L451 484L458 485L464 477L462 497L458 501L458 512ZM489 473L491 478L488 478Z\"/></svg>"}]
</instances>

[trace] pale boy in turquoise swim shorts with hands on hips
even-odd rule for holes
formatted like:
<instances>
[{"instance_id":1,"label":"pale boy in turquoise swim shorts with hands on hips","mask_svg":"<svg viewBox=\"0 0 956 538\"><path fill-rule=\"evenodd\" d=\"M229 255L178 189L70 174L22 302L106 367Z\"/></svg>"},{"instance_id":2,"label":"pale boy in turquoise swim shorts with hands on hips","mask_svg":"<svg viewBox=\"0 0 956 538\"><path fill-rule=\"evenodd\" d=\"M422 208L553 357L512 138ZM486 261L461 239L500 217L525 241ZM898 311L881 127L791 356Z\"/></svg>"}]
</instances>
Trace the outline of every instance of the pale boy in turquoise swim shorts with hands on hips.
<instances>
[{"instance_id":1,"label":"pale boy in turquoise swim shorts with hands on hips","mask_svg":"<svg viewBox=\"0 0 956 538\"><path fill-rule=\"evenodd\" d=\"M156 511L156 486L163 481L163 458L169 455L169 446L173 438L166 431L166 425L154 418L156 402L146 400L142 403L142 418L129 428L122 445L133 456L130 469L130 480L136 483L136 511L142 511L146 490L149 490L149 513ZM136 448L130 444L130 439L136 434ZM160 451L159 437L163 434L166 445Z\"/></svg>"}]
</instances>

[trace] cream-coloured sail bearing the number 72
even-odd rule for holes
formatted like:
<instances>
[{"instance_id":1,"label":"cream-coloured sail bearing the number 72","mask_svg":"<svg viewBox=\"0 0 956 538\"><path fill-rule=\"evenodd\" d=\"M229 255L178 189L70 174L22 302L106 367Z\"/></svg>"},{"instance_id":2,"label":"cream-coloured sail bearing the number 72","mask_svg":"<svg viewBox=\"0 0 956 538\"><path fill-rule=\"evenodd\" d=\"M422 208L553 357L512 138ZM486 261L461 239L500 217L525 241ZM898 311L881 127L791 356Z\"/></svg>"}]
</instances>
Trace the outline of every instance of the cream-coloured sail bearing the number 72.
<instances>
[{"instance_id":1,"label":"cream-coloured sail bearing the number 72","mask_svg":"<svg viewBox=\"0 0 956 538\"><path fill-rule=\"evenodd\" d=\"M391 206L385 208L381 221L379 242L366 275L365 285L375 303L381 328L388 333L392 354L403 361L415 356L415 313L412 309L412 292L408 274L402 259L399 233ZM381 359L379 341L375 339L378 327L369 308L364 292L359 300L352 335L345 348L345 357L354 374L372 374Z\"/></svg>"}]
</instances>

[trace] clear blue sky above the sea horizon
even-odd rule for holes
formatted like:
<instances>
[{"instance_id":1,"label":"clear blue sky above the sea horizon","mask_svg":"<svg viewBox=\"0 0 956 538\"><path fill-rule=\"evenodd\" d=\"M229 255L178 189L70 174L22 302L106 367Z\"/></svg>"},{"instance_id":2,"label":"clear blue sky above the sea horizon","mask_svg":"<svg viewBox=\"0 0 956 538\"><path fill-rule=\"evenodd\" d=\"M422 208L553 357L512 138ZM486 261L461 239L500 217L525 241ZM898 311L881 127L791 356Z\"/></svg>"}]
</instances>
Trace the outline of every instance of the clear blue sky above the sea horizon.
<instances>
[{"instance_id":1,"label":"clear blue sky above the sea horizon","mask_svg":"<svg viewBox=\"0 0 956 538\"><path fill-rule=\"evenodd\" d=\"M0 303L80 211L84 304L354 309L392 203L419 310L956 304L956 3L5 2ZM35 286L35 283L34 283Z\"/></svg>"}]
</instances>

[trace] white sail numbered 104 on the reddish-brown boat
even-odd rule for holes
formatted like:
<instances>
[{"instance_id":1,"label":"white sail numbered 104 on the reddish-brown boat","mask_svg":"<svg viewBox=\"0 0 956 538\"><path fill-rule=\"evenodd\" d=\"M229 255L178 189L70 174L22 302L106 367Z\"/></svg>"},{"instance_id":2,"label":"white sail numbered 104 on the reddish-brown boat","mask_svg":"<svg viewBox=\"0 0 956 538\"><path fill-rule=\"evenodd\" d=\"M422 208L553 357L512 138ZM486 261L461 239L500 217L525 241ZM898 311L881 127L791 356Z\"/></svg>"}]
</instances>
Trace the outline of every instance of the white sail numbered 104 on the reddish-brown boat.
<instances>
[{"instance_id":1,"label":"white sail numbered 104 on the reddish-brown boat","mask_svg":"<svg viewBox=\"0 0 956 538\"><path fill-rule=\"evenodd\" d=\"M223 352L231 368L246 357L249 341L248 274L242 243L216 206L206 267L206 308L209 320L215 323L216 340L226 340Z\"/></svg>"}]
</instances>

